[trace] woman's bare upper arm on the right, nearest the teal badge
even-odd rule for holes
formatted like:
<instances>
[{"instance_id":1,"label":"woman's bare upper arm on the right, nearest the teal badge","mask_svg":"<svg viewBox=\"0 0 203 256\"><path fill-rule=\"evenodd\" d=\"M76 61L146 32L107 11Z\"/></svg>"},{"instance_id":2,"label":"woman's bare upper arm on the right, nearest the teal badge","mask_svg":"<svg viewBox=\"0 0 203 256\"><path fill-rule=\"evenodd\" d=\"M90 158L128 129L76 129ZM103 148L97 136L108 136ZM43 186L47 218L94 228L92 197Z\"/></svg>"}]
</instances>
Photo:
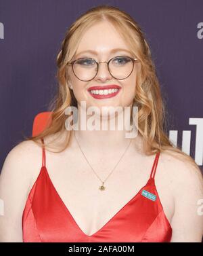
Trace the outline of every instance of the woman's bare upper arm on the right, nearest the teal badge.
<instances>
[{"instance_id":1,"label":"woman's bare upper arm on the right, nearest the teal badge","mask_svg":"<svg viewBox=\"0 0 203 256\"><path fill-rule=\"evenodd\" d=\"M173 195L175 213L171 242L202 242L203 177L200 168L179 162L175 166Z\"/></svg>"}]
</instances>

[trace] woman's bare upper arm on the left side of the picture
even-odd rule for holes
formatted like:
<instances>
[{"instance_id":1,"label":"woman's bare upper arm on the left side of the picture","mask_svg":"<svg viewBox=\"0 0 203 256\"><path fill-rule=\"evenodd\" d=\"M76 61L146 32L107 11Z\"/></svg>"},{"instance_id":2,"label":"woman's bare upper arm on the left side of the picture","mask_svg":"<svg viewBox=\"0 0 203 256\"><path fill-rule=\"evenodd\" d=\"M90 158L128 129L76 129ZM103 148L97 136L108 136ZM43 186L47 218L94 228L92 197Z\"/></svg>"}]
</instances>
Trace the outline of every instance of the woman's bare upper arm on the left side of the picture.
<instances>
[{"instance_id":1,"label":"woman's bare upper arm on the left side of the picture","mask_svg":"<svg viewBox=\"0 0 203 256\"><path fill-rule=\"evenodd\" d=\"M0 175L0 198L3 215L0 215L0 241L22 242L22 211L30 186L28 145L22 142L5 158Z\"/></svg>"}]
</instances>

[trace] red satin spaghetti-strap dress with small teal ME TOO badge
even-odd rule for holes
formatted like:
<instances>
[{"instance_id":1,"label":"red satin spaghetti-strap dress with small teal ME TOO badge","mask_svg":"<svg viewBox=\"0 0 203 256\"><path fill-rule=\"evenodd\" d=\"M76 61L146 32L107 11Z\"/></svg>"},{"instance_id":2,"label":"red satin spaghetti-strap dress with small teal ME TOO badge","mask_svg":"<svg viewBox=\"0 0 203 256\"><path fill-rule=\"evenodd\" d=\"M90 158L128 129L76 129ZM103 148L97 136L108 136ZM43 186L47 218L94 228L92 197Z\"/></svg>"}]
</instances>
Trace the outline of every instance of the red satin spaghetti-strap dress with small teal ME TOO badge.
<instances>
[{"instance_id":1,"label":"red satin spaghetti-strap dress with small teal ME TOO badge","mask_svg":"<svg viewBox=\"0 0 203 256\"><path fill-rule=\"evenodd\" d=\"M53 186L45 164L44 146L42 152L41 170L22 214L23 242L171 241L172 228L154 183L159 153L156 153L147 183L103 227L89 236L78 226Z\"/></svg>"}]
</instances>

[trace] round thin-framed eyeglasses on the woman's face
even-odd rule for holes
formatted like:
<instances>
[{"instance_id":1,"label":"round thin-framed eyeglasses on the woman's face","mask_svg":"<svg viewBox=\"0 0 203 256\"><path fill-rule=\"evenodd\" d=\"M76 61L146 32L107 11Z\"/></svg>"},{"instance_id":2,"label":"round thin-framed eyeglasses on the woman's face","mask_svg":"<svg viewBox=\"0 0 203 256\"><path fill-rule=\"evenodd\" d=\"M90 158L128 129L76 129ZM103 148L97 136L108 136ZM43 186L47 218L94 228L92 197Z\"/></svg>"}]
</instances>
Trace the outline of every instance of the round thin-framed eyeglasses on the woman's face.
<instances>
[{"instance_id":1,"label":"round thin-framed eyeglasses on the woman's face","mask_svg":"<svg viewBox=\"0 0 203 256\"><path fill-rule=\"evenodd\" d=\"M122 80L131 75L135 61L139 61L138 58L129 56L116 56L108 60L108 62L97 62L93 58L78 58L68 61L67 65L72 65L72 71L79 80L90 81L97 75L99 63L106 62L110 75L115 79Z\"/></svg>"}]
</instances>

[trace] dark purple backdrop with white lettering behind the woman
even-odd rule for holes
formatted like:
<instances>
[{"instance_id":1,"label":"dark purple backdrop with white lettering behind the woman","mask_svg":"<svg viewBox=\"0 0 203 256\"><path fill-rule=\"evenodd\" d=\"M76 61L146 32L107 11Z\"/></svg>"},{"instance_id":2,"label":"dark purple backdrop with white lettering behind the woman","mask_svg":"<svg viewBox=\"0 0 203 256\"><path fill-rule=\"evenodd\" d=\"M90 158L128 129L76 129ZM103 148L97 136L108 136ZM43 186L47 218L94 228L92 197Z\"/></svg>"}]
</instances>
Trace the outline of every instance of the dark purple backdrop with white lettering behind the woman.
<instances>
[{"instance_id":1,"label":"dark purple backdrop with white lettering behind the woman","mask_svg":"<svg viewBox=\"0 0 203 256\"><path fill-rule=\"evenodd\" d=\"M171 139L177 134L202 168L202 0L0 0L0 170L55 93L55 58L66 29L99 4L120 7L140 24L166 99L168 134L173 130Z\"/></svg>"}]
</instances>

